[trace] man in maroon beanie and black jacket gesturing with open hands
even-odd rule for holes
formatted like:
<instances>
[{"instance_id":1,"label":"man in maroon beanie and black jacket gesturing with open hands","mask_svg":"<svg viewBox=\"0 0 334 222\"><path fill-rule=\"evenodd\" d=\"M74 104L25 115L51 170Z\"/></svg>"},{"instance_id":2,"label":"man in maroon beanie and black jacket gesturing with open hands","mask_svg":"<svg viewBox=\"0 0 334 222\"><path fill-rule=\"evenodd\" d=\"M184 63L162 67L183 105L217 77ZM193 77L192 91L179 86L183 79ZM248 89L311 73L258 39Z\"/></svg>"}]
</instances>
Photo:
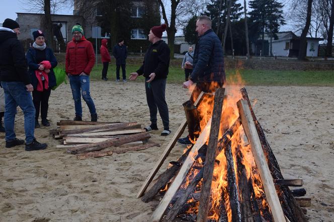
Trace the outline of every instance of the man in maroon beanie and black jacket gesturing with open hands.
<instances>
[{"instance_id":1,"label":"man in maroon beanie and black jacket gesturing with open hands","mask_svg":"<svg viewBox=\"0 0 334 222\"><path fill-rule=\"evenodd\" d=\"M168 136L170 131L168 105L165 100L166 78L170 66L170 49L162 41L162 32L166 30L166 25L154 26L148 34L149 45L142 66L130 74L130 80L136 80L138 75L145 77L146 99L149 107L151 125L145 127L146 131L158 130L157 110L162 119L163 131L161 136Z\"/></svg>"}]
</instances>

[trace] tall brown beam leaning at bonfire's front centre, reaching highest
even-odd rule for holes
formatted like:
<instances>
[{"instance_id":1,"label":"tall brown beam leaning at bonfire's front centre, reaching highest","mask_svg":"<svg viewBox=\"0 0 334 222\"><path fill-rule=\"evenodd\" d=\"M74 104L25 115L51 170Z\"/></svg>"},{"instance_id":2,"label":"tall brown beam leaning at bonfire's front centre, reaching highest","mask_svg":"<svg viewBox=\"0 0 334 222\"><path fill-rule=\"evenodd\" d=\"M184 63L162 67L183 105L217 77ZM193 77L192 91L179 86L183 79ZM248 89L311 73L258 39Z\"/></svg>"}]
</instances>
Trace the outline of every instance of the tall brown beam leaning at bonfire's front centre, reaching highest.
<instances>
[{"instance_id":1,"label":"tall brown beam leaning at bonfire's front centre, reaching highest","mask_svg":"<svg viewBox=\"0 0 334 222\"><path fill-rule=\"evenodd\" d=\"M201 222L207 221L212 175L213 175L214 161L216 159L216 148L218 143L218 136L219 136L218 134L220 127L221 111L223 108L224 93L225 93L225 88L218 88L215 92L209 144L208 144L208 149L206 151L205 165L203 169L203 181L201 186L200 205L198 208L198 214L196 220Z\"/></svg>"}]
</instances>

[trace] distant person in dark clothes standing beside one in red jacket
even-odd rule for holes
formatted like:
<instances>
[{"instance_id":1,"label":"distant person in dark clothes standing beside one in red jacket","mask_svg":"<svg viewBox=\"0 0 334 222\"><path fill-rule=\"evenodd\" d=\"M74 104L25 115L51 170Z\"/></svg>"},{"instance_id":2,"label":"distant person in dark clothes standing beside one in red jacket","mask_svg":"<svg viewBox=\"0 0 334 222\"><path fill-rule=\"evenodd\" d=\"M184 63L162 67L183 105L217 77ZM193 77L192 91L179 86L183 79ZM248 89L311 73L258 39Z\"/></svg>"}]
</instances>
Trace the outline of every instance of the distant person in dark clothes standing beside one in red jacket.
<instances>
[{"instance_id":1,"label":"distant person in dark clothes standing beside one in red jacket","mask_svg":"<svg viewBox=\"0 0 334 222\"><path fill-rule=\"evenodd\" d=\"M119 82L119 70L122 67L123 82L126 82L125 61L128 56L128 49L124 45L124 40L120 39L114 46L113 55L116 59L116 82Z\"/></svg>"}]
</instances>

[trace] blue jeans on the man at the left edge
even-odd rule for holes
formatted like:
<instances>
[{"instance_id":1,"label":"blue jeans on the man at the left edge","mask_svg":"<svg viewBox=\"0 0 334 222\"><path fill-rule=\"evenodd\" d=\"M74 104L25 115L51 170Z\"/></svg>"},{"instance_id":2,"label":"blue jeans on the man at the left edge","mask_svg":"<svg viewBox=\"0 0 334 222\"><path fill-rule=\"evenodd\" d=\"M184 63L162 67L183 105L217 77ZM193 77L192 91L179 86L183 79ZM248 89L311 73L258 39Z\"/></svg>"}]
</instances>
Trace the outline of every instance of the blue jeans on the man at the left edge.
<instances>
[{"instance_id":1,"label":"blue jeans on the man at the left edge","mask_svg":"<svg viewBox=\"0 0 334 222\"><path fill-rule=\"evenodd\" d=\"M24 132L26 134L26 144L30 144L35 139L35 107L31 93L23 82L1 82L5 91L5 130L6 141L16 138L14 132L16 107L20 106L24 114Z\"/></svg>"}]
</instances>

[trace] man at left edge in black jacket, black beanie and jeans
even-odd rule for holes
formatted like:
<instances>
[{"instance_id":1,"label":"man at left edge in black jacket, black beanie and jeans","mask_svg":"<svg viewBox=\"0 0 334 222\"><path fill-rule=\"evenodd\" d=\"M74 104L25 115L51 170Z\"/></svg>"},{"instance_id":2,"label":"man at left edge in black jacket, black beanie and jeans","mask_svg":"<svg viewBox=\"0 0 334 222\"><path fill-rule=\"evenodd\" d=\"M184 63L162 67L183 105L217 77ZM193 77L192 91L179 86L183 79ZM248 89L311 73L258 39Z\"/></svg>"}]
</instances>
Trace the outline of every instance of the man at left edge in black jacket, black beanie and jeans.
<instances>
[{"instance_id":1,"label":"man at left edge in black jacket, black beanie and jeans","mask_svg":"<svg viewBox=\"0 0 334 222\"><path fill-rule=\"evenodd\" d=\"M20 106L24 113L26 151L44 150L47 144L37 142L34 137L35 107L31 97L34 88L17 35L20 35L19 24L6 19L0 27L0 81L5 91L6 148L24 144L24 140L17 139L14 132L16 107Z\"/></svg>"}]
</instances>

